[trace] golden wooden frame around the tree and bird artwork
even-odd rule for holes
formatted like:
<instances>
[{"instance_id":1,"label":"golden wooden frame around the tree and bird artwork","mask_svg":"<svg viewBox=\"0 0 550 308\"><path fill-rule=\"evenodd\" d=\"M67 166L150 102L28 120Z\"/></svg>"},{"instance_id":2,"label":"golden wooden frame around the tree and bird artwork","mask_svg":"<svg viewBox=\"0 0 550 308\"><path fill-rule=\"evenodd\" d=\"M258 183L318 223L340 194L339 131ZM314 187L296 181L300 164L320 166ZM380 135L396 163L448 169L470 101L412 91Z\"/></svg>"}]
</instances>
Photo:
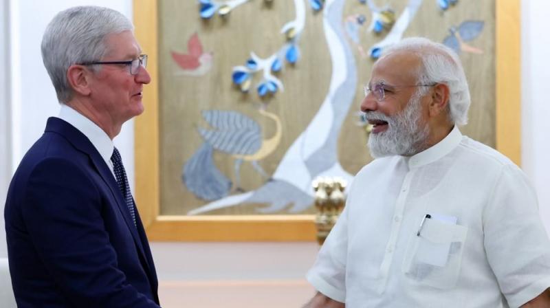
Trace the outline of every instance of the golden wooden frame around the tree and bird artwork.
<instances>
[{"instance_id":1,"label":"golden wooden frame around the tree and bird artwork","mask_svg":"<svg viewBox=\"0 0 550 308\"><path fill-rule=\"evenodd\" d=\"M135 35L149 56L146 112L135 119L135 196L151 241L315 241L314 215L160 213L157 1L134 0ZM496 148L520 163L520 0L496 0Z\"/></svg>"}]
</instances>

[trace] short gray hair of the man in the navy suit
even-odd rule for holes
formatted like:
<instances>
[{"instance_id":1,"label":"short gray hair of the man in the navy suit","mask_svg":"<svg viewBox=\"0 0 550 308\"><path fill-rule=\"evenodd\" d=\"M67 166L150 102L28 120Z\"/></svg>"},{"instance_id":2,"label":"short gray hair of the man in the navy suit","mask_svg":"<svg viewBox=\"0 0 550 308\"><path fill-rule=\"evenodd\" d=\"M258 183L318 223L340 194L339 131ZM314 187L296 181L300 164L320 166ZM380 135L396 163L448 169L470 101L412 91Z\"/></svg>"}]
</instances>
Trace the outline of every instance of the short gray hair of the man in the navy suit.
<instances>
[{"instance_id":1,"label":"short gray hair of the man in the navy suit","mask_svg":"<svg viewBox=\"0 0 550 308\"><path fill-rule=\"evenodd\" d=\"M110 8L77 6L59 12L47 25L42 38L42 59L52 79L59 102L72 99L67 69L76 63L100 61L109 52L105 38L133 30L123 14Z\"/></svg>"}]
</instances>

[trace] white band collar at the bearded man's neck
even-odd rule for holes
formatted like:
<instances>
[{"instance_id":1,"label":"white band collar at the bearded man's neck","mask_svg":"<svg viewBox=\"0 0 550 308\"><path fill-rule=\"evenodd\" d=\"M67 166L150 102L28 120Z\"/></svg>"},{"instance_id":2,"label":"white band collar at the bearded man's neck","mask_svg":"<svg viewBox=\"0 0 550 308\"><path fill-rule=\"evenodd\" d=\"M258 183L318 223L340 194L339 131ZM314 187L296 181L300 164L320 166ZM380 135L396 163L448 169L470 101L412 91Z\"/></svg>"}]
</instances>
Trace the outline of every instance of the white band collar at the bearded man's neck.
<instances>
[{"instance_id":1,"label":"white band collar at the bearded man's neck","mask_svg":"<svg viewBox=\"0 0 550 308\"><path fill-rule=\"evenodd\" d=\"M437 159L447 155L456 148L461 140L462 133L457 126L454 126L452 131L444 137L443 140L416 155L412 155L410 159L408 159L409 168L418 168L435 162Z\"/></svg>"}]
</instances>

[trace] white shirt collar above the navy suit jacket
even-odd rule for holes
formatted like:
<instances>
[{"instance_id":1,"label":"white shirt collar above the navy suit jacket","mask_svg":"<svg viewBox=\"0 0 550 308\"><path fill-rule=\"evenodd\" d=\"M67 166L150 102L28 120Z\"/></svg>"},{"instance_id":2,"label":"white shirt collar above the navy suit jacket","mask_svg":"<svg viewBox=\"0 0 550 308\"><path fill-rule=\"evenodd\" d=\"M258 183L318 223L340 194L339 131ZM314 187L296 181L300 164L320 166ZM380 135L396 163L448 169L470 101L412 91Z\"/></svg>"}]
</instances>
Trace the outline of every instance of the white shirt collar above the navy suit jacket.
<instances>
[{"instance_id":1,"label":"white shirt collar above the navy suit jacket","mask_svg":"<svg viewBox=\"0 0 550 308\"><path fill-rule=\"evenodd\" d=\"M109 138L109 135L107 135L100 126L66 104L61 104L59 118L65 120L65 122L71 124L88 137L91 144L94 145L103 160L107 163L107 166L109 166L109 161L111 160L111 155L113 154L115 146L113 140Z\"/></svg>"}]
</instances>

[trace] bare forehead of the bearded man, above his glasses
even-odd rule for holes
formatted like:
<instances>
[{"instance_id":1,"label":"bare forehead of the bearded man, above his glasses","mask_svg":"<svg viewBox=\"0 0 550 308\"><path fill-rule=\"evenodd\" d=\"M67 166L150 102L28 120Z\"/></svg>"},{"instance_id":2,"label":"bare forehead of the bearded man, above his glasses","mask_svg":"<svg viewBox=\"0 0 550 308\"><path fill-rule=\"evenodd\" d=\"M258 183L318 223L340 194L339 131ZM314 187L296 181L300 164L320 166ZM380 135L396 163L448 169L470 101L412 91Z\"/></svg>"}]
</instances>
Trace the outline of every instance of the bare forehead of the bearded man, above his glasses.
<instances>
[{"instance_id":1,"label":"bare forehead of the bearded man, above his glasses","mask_svg":"<svg viewBox=\"0 0 550 308\"><path fill-rule=\"evenodd\" d=\"M369 83L374 85L383 80L391 85L415 85L420 69L421 58L414 52L393 52L375 62Z\"/></svg>"}]
</instances>

